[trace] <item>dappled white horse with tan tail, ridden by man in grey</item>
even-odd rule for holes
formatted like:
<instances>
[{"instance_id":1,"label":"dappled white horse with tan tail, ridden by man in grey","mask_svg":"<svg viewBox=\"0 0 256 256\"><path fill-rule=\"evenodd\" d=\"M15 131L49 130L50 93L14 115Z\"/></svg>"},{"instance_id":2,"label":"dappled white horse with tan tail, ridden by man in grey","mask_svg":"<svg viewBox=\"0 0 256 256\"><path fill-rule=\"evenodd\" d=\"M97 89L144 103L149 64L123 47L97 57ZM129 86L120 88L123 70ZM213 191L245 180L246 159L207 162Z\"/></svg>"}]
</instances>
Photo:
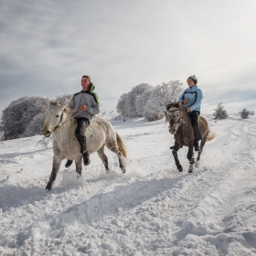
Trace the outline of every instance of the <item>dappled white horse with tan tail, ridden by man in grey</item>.
<instances>
[{"instance_id":1,"label":"dappled white horse with tan tail, ridden by man in grey","mask_svg":"<svg viewBox=\"0 0 256 256\"><path fill-rule=\"evenodd\" d=\"M77 122L70 117L70 112L72 111L67 107L67 101L48 101L46 119L41 129L45 137L49 137L51 133L54 134L52 171L46 187L48 190L52 188L63 159L74 160L76 172L81 175L82 154L80 154L80 143L75 135ZM123 174L125 173L123 157L127 158L126 149L111 123L104 119L93 119L86 129L85 136L88 153L98 153L106 172L109 172L109 165L108 157L104 154L105 145L118 156L119 166Z\"/></svg>"}]
</instances>

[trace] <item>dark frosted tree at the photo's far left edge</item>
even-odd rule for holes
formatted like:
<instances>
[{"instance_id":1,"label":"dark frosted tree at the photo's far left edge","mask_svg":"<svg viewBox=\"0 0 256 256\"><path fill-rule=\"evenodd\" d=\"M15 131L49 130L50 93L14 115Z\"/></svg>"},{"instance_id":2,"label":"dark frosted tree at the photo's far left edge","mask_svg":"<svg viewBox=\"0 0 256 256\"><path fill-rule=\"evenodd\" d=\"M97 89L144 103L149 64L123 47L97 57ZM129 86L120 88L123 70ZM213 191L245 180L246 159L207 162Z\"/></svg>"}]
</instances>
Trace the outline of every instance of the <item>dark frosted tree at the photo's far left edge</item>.
<instances>
[{"instance_id":1,"label":"dark frosted tree at the photo's far left edge","mask_svg":"<svg viewBox=\"0 0 256 256\"><path fill-rule=\"evenodd\" d=\"M18 138L38 113L46 112L47 100L41 97L22 97L12 101L3 111L2 131L5 140Z\"/></svg>"}]
</instances>

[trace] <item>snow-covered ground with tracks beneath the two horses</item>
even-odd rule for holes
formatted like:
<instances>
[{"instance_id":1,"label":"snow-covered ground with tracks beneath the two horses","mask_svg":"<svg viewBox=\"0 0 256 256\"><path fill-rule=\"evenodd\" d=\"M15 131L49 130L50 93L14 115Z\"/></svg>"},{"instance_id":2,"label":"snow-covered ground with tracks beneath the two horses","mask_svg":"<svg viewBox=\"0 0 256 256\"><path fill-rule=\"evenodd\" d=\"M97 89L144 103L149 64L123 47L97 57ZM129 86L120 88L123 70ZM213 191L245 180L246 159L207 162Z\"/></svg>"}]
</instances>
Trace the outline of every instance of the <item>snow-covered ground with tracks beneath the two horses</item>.
<instances>
[{"instance_id":1,"label":"snow-covered ground with tracks beneath the two horses","mask_svg":"<svg viewBox=\"0 0 256 256\"><path fill-rule=\"evenodd\" d=\"M206 117L216 138L193 174L163 120L112 119L126 174L93 154L80 178L62 163L50 192L51 145L0 142L0 255L256 255L256 118Z\"/></svg>"}]
</instances>

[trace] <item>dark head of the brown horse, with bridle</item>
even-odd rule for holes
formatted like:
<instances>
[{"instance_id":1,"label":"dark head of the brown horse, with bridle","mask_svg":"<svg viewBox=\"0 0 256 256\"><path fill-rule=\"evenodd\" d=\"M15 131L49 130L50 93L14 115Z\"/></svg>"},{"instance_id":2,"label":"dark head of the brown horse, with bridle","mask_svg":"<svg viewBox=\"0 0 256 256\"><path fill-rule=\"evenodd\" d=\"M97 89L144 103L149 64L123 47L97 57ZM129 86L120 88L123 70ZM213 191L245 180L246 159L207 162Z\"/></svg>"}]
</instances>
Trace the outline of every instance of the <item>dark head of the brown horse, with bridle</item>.
<instances>
[{"instance_id":1,"label":"dark head of the brown horse, with bridle","mask_svg":"<svg viewBox=\"0 0 256 256\"><path fill-rule=\"evenodd\" d=\"M184 123L184 108L180 102L172 102L166 106L169 120L169 132L175 134L178 127Z\"/></svg>"}]
</instances>

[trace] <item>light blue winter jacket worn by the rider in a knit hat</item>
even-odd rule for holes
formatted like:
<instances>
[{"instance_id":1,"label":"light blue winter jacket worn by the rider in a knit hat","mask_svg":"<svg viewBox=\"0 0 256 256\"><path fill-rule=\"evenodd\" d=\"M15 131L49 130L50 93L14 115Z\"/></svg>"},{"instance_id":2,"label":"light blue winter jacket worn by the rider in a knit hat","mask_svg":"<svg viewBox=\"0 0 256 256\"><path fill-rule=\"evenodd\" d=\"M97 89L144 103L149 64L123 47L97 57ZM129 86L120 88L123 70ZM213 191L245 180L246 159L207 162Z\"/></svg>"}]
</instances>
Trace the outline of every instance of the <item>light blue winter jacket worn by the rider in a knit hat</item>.
<instances>
[{"instance_id":1,"label":"light blue winter jacket worn by the rider in a knit hat","mask_svg":"<svg viewBox=\"0 0 256 256\"><path fill-rule=\"evenodd\" d=\"M187 103L184 105L185 108L190 108L191 112L201 111L201 102L204 96L202 91L196 86L192 88L188 87L183 93L179 96L178 101L183 101L188 99Z\"/></svg>"}]
</instances>

